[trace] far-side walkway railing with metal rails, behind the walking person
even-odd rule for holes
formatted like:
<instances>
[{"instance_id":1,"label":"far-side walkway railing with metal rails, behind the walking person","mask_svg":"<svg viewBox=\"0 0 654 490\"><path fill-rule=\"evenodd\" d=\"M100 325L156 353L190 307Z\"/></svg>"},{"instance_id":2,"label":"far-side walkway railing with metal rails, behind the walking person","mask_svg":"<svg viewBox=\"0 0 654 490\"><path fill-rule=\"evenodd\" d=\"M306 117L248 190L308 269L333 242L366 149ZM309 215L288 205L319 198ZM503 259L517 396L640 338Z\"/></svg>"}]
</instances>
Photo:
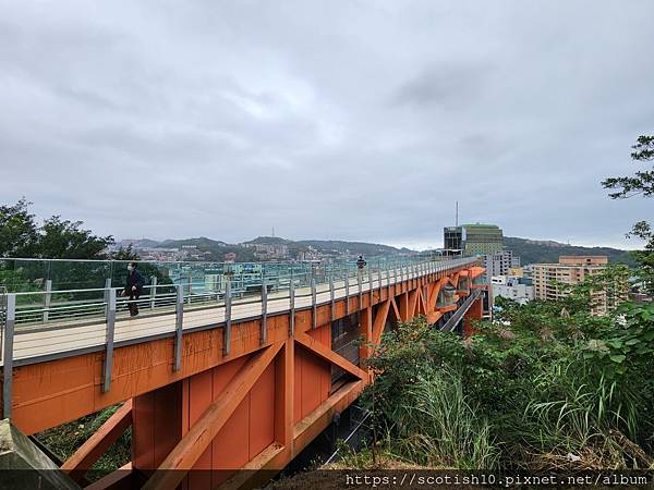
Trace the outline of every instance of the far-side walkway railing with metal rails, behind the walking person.
<instances>
[{"instance_id":1,"label":"far-side walkway railing with metal rails, behind the walking person","mask_svg":"<svg viewBox=\"0 0 654 490\"><path fill-rule=\"evenodd\" d=\"M455 267L458 260L470 261L472 259L450 259L433 261L434 264L448 264ZM2 262L13 261L16 264L35 262L37 269L41 268L51 271L52 267L44 267L40 260L31 259L4 259ZM57 262L58 270L62 271L62 264L65 261L49 260ZM111 261L110 266L99 261L70 261L75 273L86 273L86 266L90 264L95 269L101 271L118 269L117 264ZM164 262L162 262L164 264ZM159 264L156 272L167 270L168 264ZM234 302L246 303L249 298L262 296L262 286L266 284L266 292L270 297L279 297L279 294L288 294L291 284L295 290L310 287L312 291L319 290L322 286L332 287L335 282L341 281L346 289L348 285L354 285L360 296L363 294L366 283L378 283L382 275L385 279L393 278L395 281L402 281L403 275L408 275L412 268L422 267L423 264L432 264L416 260L385 259L368 262L366 273L359 273L355 262L337 262L330 265L306 265L306 264L221 264L215 262L173 262L175 267L194 267L195 272L187 275L172 274L168 269L168 275L159 278L152 275L145 278L147 284L143 287L142 295L137 299L129 299L121 296L122 287L116 287L116 273L112 277L94 279L95 283L104 283L98 287L74 287L57 289L57 279L36 278L28 280L25 273L22 280L14 280L12 284L4 286L7 293L16 295L16 326L19 330L24 328L62 328L66 324L75 326L81 322L99 321L107 314L109 294L114 291L117 294L117 317L128 316L129 306L137 305L142 315L158 315L165 311L172 311L178 296L177 291L182 290L184 304L190 308L195 307L215 307L225 304L227 283L229 282L231 296ZM82 266L83 267L82 267ZM146 266L152 264L146 264ZM143 268L143 266L140 266ZM14 268L14 270L20 270ZM149 270L153 271L152 269ZM254 271L254 272L253 272ZM121 277L121 283L124 283L124 277ZM194 279L195 278L195 279ZM88 280L75 280L69 274L64 282L59 284L81 284L88 283ZM38 284L40 287L33 287ZM314 285L312 285L314 284ZM33 287L32 290L29 290ZM342 286L341 286L342 287ZM12 291L13 289L13 291ZM17 291L16 291L17 290ZM26 291L27 290L27 291ZM370 290L370 289L368 289ZM1 310L0 310L1 311ZM0 313L1 315L1 313Z\"/></svg>"}]
</instances>

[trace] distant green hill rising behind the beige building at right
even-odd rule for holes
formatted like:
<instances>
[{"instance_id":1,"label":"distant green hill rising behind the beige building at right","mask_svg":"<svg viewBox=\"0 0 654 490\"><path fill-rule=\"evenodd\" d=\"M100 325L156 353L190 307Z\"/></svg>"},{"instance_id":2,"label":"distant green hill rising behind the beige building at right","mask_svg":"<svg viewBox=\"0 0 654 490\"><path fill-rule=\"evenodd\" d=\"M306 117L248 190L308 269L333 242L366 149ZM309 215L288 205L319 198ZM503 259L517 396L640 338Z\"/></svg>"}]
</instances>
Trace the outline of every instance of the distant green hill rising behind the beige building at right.
<instances>
[{"instance_id":1,"label":"distant green hill rising behind the beige building at right","mask_svg":"<svg viewBox=\"0 0 654 490\"><path fill-rule=\"evenodd\" d=\"M633 266L633 259L627 250L610 247L582 247L564 243L505 236L505 247L520 257L522 265L537 262L558 262L560 255L606 255L614 264Z\"/></svg>"}]
</instances>

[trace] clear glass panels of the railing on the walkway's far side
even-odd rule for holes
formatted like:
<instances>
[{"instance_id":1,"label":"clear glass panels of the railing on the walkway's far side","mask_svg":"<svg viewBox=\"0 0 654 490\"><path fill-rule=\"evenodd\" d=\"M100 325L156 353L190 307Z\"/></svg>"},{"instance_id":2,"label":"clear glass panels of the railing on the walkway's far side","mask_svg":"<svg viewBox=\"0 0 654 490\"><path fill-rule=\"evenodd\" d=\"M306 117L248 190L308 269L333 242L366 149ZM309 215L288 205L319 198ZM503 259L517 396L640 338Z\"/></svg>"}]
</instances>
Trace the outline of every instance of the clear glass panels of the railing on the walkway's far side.
<instances>
[{"instance_id":1,"label":"clear glass panels of the railing on the walkway's far side","mask_svg":"<svg viewBox=\"0 0 654 490\"><path fill-rule=\"evenodd\" d=\"M379 286L388 283L388 278L390 282L399 282L416 273L447 270L472 261L468 258L432 261L420 257L371 258L361 272L362 282L367 287L372 277L373 284ZM425 264L428 267L422 267ZM117 289L120 294L128 277L126 266L126 261L114 260L1 259L0 286L8 292L38 293L21 295L17 301L25 320L46 318L52 321L65 315L75 320L85 315L99 318L106 305L106 286ZM140 261L137 270L145 282L140 302L150 309L171 309L175 301L174 287L181 287L185 305L221 304L228 282L234 297L261 296L264 282L268 292L281 292L282 297L288 297L291 283L296 289L310 287L313 280L316 286L324 286L330 279L340 284L348 278L350 294L356 294L360 274L355 260L322 264ZM50 290L47 290L48 284ZM119 304L124 301L119 296ZM451 301L449 296L444 296L443 302L448 301Z\"/></svg>"}]
</instances>

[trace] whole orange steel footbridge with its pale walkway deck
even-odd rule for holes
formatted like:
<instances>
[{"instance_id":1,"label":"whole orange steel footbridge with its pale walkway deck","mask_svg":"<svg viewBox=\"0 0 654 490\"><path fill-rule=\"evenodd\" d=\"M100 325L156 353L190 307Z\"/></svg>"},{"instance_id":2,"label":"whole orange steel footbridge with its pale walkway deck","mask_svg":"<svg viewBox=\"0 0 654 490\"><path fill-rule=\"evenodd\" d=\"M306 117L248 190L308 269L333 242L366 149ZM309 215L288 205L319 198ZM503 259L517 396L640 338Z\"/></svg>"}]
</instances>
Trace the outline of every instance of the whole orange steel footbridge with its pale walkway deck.
<instances>
[{"instance_id":1,"label":"whole orange steel footbridge with its pale walkway deck","mask_svg":"<svg viewBox=\"0 0 654 490\"><path fill-rule=\"evenodd\" d=\"M51 310L46 323L5 294L3 416L33 434L124 402L62 470L81 479L132 427L132 462L89 488L252 486L372 381L364 360L385 330L419 315L447 330L481 319L483 272L473 258L427 260L241 299L228 282L198 304L178 287L134 319L109 289L101 318Z\"/></svg>"}]
</instances>

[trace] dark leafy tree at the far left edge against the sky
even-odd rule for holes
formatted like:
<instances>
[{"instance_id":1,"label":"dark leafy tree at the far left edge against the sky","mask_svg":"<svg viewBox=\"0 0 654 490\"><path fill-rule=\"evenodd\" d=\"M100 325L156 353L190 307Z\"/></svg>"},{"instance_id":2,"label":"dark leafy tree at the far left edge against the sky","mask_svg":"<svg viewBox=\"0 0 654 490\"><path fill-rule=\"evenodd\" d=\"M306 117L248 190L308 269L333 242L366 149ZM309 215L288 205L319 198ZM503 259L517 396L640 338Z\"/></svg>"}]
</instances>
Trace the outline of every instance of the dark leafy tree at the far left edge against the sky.
<instances>
[{"instance_id":1,"label":"dark leafy tree at the far left edge against the sky","mask_svg":"<svg viewBox=\"0 0 654 490\"><path fill-rule=\"evenodd\" d=\"M32 257L38 242L38 226L23 197L15 205L0 206L0 257Z\"/></svg>"}]
</instances>

